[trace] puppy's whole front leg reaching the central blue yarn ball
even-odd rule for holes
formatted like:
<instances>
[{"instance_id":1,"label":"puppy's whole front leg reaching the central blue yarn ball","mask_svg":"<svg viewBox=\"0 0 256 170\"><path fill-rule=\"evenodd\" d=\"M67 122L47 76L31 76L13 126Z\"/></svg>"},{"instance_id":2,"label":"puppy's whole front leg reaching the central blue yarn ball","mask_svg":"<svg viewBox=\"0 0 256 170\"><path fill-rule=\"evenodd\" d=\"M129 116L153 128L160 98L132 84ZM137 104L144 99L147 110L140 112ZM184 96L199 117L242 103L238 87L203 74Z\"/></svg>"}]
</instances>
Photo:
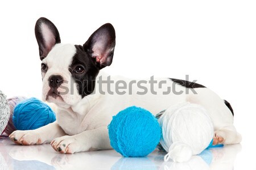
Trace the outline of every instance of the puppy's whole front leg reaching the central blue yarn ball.
<instances>
[{"instance_id":1,"label":"puppy's whole front leg reaching the central blue yarn ball","mask_svg":"<svg viewBox=\"0 0 256 170\"><path fill-rule=\"evenodd\" d=\"M73 136L56 138L51 142L52 147L62 154L75 152L111 149L108 127L102 126L93 130L86 130Z\"/></svg>"}]
</instances>

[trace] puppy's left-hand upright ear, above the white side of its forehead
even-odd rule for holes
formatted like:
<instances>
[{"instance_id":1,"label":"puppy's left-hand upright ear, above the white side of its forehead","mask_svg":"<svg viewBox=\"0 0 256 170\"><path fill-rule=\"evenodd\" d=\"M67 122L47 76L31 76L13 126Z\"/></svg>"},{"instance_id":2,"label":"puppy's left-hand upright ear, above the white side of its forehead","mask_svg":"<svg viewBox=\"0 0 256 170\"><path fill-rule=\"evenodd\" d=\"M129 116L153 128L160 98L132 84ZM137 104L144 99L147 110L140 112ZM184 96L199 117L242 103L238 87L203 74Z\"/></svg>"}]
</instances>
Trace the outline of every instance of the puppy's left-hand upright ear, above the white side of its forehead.
<instances>
[{"instance_id":1,"label":"puppy's left-hand upright ear, above the white side of its forehead","mask_svg":"<svg viewBox=\"0 0 256 170\"><path fill-rule=\"evenodd\" d=\"M38 41L40 59L48 55L52 47L60 43L60 34L55 25L47 18L39 18L35 25L35 36Z\"/></svg>"}]
</instances>

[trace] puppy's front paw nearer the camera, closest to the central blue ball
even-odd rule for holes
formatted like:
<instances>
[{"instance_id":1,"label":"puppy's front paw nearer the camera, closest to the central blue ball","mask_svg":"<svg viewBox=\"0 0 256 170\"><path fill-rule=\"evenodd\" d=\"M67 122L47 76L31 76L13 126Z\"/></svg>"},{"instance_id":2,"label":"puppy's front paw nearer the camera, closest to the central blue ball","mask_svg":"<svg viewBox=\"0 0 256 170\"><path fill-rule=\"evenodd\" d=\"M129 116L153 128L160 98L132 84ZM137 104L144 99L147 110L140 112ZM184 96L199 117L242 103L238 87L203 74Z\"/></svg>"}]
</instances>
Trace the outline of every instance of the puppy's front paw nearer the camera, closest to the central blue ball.
<instances>
[{"instance_id":1,"label":"puppy's front paw nearer the camera, closest to the central blue ball","mask_svg":"<svg viewBox=\"0 0 256 170\"><path fill-rule=\"evenodd\" d=\"M57 152L61 154L73 154L75 152L80 152L79 142L73 136L63 136L56 138L51 142L51 146Z\"/></svg>"}]
</instances>

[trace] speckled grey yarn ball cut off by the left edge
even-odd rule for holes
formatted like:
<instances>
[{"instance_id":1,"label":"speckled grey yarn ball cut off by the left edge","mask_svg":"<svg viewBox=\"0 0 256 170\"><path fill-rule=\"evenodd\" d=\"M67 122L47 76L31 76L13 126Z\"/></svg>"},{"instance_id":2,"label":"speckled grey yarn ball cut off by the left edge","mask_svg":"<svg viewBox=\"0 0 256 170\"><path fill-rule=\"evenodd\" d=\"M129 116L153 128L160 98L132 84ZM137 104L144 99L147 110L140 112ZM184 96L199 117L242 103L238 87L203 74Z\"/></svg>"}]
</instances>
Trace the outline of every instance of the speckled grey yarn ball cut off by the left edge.
<instances>
[{"instance_id":1,"label":"speckled grey yarn ball cut off by the left edge","mask_svg":"<svg viewBox=\"0 0 256 170\"><path fill-rule=\"evenodd\" d=\"M10 108L5 94L0 90L0 135L5 130L10 118Z\"/></svg>"}]
</instances>

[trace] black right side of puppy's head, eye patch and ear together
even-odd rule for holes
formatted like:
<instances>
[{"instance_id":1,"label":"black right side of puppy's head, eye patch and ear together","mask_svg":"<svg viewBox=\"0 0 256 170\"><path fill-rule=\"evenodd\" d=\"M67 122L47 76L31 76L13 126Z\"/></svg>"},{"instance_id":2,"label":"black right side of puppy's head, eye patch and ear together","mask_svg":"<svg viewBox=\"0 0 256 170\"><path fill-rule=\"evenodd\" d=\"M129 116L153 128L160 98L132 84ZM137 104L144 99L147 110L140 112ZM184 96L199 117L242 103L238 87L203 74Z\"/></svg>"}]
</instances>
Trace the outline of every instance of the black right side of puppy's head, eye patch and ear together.
<instances>
[{"instance_id":1,"label":"black right side of puppy's head, eye patch and ear together","mask_svg":"<svg viewBox=\"0 0 256 170\"><path fill-rule=\"evenodd\" d=\"M92 94L99 71L112 63L115 29L106 23L98 28L84 45L75 45L76 54L69 65L77 90L83 97Z\"/></svg>"}]
</instances>

